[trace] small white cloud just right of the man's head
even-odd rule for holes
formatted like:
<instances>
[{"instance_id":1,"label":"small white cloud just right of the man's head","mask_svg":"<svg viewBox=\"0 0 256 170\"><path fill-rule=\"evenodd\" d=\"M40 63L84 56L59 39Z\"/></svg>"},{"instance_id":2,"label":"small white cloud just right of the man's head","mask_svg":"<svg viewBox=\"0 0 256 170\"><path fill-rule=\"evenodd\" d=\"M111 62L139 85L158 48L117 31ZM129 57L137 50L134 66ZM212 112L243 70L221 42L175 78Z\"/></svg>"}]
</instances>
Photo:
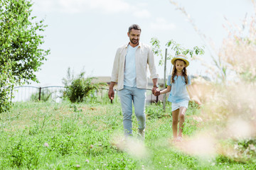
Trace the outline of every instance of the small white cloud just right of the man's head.
<instances>
[{"instance_id":1,"label":"small white cloud just right of the man's head","mask_svg":"<svg viewBox=\"0 0 256 170\"><path fill-rule=\"evenodd\" d=\"M156 18L156 22L150 24L153 30L174 30L176 25L174 23L169 23L164 18Z\"/></svg>"}]
</instances>

